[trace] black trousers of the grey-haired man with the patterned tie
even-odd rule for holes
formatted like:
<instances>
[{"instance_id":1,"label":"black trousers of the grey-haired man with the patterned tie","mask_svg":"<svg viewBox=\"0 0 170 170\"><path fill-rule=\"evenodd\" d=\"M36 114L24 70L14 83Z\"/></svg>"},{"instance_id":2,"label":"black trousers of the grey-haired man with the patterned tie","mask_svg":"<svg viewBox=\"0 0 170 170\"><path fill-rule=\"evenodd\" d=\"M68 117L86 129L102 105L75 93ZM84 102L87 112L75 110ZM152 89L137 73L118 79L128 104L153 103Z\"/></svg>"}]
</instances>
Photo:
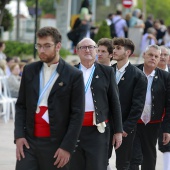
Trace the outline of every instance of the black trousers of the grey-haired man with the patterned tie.
<instances>
[{"instance_id":1,"label":"black trousers of the grey-haired man with the patterned tie","mask_svg":"<svg viewBox=\"0 0 170 170\"><path fill-rule=\"evenodd\" d=\"M139 165L141 170L155 170L159 129L160 123L137 125L129 170L134 170Z\"/></svg>"}]
</instances>

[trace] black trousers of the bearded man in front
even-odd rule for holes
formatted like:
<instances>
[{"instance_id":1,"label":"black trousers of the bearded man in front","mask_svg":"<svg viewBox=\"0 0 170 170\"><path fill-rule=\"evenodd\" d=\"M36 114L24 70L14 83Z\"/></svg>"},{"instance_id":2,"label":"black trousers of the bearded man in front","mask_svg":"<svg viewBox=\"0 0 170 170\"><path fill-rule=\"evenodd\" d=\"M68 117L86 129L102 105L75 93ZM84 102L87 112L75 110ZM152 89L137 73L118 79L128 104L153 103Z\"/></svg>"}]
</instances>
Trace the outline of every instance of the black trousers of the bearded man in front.
<instances>
[{"instance_id":1,"label":"black trousers of the bearded man in front","mask_svg":"<svg viewBox=\"0 0 170 170\"><path fill-rule=\"evenodd\" d=\"M27 137L30 149L24 147L25 158L16 162L16 170L69 170L69 165L63 168L54 166L54 154L59 148L56 140L51 138Z\"/></svg>"}]
</instances>

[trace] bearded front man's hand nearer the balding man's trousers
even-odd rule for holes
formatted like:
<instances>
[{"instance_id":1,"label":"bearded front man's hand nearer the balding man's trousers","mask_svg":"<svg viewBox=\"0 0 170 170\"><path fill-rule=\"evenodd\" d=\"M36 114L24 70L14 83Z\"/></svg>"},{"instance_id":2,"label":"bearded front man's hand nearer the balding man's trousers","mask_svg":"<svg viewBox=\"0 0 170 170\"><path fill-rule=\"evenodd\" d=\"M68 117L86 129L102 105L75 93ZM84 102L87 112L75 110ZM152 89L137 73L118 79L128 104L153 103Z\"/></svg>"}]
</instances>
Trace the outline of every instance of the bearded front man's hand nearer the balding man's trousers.
<instances>
[{"instance_id":1,"label":"bearded front man's hand nearer the balding man's trousers","mask_svg":"<svg viewBox=\"0 0 170 170\"><path fill-rule=\"evenodd\" d=\"M56 161L54 162L54 165L57 165L57 168L62 168L64 165L66 165L69 162L70 159L70 153L59 148L57 149L54 158L56 158Z\"/></svg>"}]
</instances>

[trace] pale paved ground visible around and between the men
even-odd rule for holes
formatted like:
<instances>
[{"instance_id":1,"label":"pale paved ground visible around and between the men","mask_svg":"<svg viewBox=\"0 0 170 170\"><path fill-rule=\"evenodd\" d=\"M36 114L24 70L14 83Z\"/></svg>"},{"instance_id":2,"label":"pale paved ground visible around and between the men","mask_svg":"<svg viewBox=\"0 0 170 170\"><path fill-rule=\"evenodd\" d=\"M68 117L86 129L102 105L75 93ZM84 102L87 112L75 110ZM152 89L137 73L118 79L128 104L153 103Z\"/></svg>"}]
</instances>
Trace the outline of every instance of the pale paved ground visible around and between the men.
<instances>
[{"instance_id":1,"label":"pale paved ground visible around and between the men","mask_svg":"<svg viewBox=\"0 0 170 170\"><path fill-rule=\"evenodd\" d=\"M68 62L72 60L77 61L77 57L69 57ZM130 58L131 63L136 63L137 58ZM13 120L8 123L4 123L2 117L0 117L0 170L14 170L15 169L15 145L13 143ZM115 154L110 160L111 167L115 167ZM162 170L162 153L158 151L156 170ZM116 168L114 168L116 170Z\"/></svg>"}]
</instances>

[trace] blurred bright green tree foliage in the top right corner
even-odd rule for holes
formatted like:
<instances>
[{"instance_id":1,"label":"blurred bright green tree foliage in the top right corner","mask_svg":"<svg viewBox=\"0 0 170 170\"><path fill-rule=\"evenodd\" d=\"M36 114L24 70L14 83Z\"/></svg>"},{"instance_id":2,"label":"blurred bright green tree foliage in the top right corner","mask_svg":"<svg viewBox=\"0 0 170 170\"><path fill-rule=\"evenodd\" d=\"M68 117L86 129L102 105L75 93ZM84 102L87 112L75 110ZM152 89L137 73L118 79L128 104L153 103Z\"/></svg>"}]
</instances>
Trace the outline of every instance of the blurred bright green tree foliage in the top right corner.
<instances>
[{"instance_id":1,"label":"blurred bright green tree foliage in the top right corner","mask_svg":"<svg viewBox=\"0 0 170 170\"><path fill-rule=\"evenodd\" d=\"M170 9L169 0L146 0L146 11L147 14L152 14L154 19L163 19L165 25L170 25L169 18L169 9ZM138 8L143 9L143 0L138 0Z\"/></svg>"}]
</instances>

